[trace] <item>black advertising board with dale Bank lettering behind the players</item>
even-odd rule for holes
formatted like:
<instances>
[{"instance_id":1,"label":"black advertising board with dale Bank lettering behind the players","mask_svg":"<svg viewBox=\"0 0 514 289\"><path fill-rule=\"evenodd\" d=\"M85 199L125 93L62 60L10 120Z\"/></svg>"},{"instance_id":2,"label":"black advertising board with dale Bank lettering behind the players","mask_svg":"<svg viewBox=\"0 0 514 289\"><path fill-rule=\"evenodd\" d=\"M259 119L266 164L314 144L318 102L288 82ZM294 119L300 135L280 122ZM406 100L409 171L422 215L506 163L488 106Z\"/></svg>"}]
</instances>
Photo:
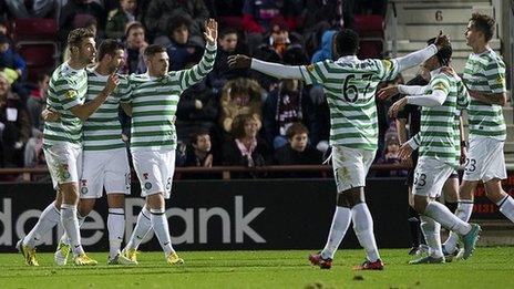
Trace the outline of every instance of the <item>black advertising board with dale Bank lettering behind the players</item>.
<instances>
[{"instance_id":1,"label":"black advertising board with dale Bank lettering behind the players","mask_svg":"<svg viewBox=\"0 0 514 289\"><path fill-rule=\"evenodd\" d=\"M166 214L178 250L320 248L333 214L332 179L178 180L173 186ZM508 189L512 193L512 184ZM126 236L143 205L138 190L134 184L126 199ZM502 218L480 192L473 217ZM403 179L368 180L367 202L381 248L410 245L407 194ZM16 241L34 225L53 196L51 184L0 184L0 251L14 250ZM109 249L106 213L106 200L102 198L82 227L83 245L89 251ZM54 250L60 234L62 228L56 228L45 236L39 250ZM153 237L150 235L146 239ZM358 247L351 229L342 246ZM152 238L141 249L161 247Z\"/></svg>"}]
</instances>

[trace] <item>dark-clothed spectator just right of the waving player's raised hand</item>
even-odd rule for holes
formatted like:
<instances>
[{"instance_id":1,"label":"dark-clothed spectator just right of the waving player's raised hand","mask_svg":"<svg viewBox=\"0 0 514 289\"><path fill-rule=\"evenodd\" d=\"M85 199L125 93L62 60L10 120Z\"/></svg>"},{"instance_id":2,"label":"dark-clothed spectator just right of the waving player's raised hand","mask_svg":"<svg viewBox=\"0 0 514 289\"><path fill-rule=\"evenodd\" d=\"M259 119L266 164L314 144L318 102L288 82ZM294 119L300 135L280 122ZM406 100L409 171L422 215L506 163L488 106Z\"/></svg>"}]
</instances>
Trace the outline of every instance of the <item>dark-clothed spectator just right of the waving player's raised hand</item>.
<instances>
[{"instance_id":1,"label":"dark-clothed spectator just right of the waving player's raised hand","mask_svg":"<svg viewBox=\"0 0 514 289\"><path fill-rule=\"evenodd\" d=\"M216 54L216 62L214 63L213 71L207 74L208 85L216 94L222 91L227 81L249 76L249 71L246 69L233 70L228 68L228 56L245 53L238 44L239 37L235 29L226 28L222 30L218 38L218 53Z\"/></svg>"}]
</instances>

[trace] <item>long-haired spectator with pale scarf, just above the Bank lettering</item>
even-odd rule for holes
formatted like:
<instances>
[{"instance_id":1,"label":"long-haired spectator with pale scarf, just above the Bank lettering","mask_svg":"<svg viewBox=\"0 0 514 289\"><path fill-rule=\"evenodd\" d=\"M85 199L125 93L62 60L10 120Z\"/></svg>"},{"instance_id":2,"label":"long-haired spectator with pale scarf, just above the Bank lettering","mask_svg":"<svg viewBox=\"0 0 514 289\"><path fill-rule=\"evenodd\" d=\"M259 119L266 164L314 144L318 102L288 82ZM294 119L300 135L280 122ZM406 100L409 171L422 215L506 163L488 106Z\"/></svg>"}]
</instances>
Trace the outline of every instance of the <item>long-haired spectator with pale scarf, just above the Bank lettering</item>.
<instances>
[{"instance_id":1,"label":"long-haired spectator with pale scarf, just above the Bank lettering","mask_svg":"<svg viewBox=\"0 0 514 289\"><path fill-rule=\"evenodd\" d=\"M257 136L259 123L251 114L240 114L234 118L229 142L224 143L223 164L228 166L264 166L270 163L273 151L266 141ZM240 176L248 174L240 174ZM250 174L256 177L255 174Z\"/></svg>"}]
</instances>

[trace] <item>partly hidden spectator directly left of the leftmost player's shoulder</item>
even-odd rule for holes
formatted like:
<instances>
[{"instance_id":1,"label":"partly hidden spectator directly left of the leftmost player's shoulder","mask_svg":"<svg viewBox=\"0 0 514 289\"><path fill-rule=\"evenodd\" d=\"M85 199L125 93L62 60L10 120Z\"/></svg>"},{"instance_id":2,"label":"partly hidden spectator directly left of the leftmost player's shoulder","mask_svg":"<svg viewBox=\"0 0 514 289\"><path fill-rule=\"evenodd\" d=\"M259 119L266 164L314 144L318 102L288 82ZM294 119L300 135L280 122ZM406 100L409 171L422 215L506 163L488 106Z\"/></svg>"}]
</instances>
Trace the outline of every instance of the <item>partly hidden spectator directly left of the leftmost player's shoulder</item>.
<instances>
[{"instance_id":1,"label":"partly hidden spectator directly left of the leftmost player's shoulder","mask_svg":"<svg viewBox=\"0 0 514 289\"><path fill-rule=\"evenodd\" d=\"M37 87L30 92L29 100L27 101L27 109L29 111L32 128L42 132L43 123L41 122L41 112L47 102L50 75L48 73L39 73L35 78L35 83Z\"/></svg>"}]
</instances>

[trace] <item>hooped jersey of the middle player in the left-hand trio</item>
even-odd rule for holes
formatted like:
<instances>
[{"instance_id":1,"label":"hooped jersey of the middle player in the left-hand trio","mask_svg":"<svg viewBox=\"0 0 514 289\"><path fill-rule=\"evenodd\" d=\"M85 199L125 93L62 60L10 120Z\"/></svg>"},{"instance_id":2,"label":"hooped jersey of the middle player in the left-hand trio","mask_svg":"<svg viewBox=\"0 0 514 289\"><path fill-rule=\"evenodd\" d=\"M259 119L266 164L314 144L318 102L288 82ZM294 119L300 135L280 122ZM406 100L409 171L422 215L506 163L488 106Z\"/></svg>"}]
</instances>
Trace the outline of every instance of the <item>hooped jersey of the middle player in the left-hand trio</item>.
<instances>
[{"instance_id":1,"label":"hooped jersey of the middle player in the left-hand trio","mask_svg":"<svg viewBox=\"0 0 514 289\"><path fill-rule=\"evenodd\" d=\"M103 91L109 75L101 75L88 70L88 93L85 101L92 101ZM117 116L120 102L130 102L131 91L126 76L119 75L120 83L99 110L83 126L84 151L109 151L125 147L122 141L122 126Z\"/></svg>"}]
</instances>

